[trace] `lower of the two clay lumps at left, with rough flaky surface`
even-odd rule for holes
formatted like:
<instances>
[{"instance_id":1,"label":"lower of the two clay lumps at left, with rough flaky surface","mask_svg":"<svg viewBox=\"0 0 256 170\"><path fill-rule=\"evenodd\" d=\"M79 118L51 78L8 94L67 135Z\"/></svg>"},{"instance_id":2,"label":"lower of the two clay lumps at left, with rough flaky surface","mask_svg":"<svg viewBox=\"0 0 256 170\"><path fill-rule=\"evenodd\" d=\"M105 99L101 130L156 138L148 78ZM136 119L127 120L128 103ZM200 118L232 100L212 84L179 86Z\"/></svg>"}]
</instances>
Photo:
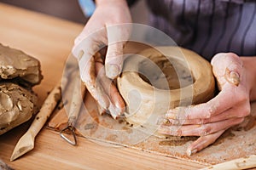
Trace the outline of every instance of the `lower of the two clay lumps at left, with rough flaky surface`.
<instances>
[{"instance_id":1,"label":"lower of the two clay lumps at left, with rough flaky surface","mask_svg":"<svg viewBox=\"0 0 256 170\"><path fill-rule=\"evenodd\" d=\"M0 83L0 134L29 120L37 111L37 96L11 82Z\"/></svg>"}]
</instances>

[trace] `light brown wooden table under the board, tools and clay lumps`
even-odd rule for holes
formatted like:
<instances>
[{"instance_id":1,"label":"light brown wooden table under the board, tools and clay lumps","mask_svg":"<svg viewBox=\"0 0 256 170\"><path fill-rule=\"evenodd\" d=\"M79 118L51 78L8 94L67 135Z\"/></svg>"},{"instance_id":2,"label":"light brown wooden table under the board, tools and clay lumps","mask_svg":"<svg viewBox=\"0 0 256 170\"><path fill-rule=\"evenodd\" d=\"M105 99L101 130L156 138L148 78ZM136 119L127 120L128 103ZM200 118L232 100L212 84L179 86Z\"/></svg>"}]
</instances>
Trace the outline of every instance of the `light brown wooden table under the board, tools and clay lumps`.
<instances>
[{"instance_id":1,"label":"light brown wooden table under the board, tools and clay lumps","mask_svg":"<svg viewBox=\"0 0 256 170\"><path fill-rule=\"evenodd\" d=\"M44 81L34 90L42 104L61 77L63 65L83 26L0 3L0 42L38 58ZM9 158L27 126L0 136L0 158L15 169L197 169L203 165L158 156L140 150L97 144L79 138L72 146L46 127L38 134L35 149L10 162Z\"/></svg>"}]
</instances>

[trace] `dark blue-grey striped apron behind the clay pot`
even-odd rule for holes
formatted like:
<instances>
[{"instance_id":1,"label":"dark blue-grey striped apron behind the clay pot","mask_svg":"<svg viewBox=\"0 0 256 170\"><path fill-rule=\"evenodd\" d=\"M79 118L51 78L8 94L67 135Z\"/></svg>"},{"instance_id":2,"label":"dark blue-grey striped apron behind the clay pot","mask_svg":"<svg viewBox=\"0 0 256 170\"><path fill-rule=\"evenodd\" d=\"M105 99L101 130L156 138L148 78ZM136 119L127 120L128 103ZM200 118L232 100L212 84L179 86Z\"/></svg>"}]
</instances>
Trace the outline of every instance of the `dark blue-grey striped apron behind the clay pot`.
<instances>
[{"instance_id":1,"label":"dark blue-grey striped apron behind the clay pot","mask_svg":"<svg viewBox=\"0 0 256 170\"><path fill-rule=\"evenodd\" d=\"M147 0L150 26L207 59L219 52L256 56L255 0Z\"/></svg>"}]
</instances>

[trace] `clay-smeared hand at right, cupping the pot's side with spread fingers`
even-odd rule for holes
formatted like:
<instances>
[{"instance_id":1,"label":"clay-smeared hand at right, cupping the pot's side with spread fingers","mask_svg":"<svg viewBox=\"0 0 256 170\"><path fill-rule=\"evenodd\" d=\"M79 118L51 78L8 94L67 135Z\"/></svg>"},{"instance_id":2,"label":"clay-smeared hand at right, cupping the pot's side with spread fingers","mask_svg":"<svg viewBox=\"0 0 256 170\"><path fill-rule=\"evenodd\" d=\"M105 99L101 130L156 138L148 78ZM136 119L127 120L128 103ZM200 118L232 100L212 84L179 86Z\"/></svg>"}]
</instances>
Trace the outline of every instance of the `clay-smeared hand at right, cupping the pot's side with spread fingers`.
<instances>
[{"instance_id":1,"label":"clay-smeared hand at right, cupping the pot's side with spread fingers","mask_svg":"<svg viewBox=\"0 0 256 170\"><path fill-rule=\"evenodd\" d=\"M255 57L216 54L211 64L218 82L218 95L207 103L168 111L167 124L160 127L160 133L164 134L200 136L189 145L189 156L212 144L229 127L243 122L250 114L250 100L256 98Z\"/></svg>"}]
</instances>

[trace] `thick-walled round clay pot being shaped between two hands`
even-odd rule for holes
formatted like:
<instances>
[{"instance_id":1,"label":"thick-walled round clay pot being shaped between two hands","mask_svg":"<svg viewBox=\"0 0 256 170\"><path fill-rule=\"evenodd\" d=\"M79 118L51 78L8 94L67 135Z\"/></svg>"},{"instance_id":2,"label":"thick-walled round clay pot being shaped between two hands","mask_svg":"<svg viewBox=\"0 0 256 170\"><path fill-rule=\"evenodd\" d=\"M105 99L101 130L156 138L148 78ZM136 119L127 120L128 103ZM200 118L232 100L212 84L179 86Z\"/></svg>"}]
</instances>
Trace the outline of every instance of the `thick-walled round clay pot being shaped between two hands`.
<instances>
[{"instance_id":1,"label":"thick-walled round clay pot being shaped between two hands","mask_svg":"<svg viewBox=\"0 0 256 170\"><path fill-rule=\"evenodd\" d=\"M157 47L125 59L117 85L127 105L126 121L155 127L169 109L211 99L215 82L212 66L200 55Z\"/></svg>"}]
</instances>

